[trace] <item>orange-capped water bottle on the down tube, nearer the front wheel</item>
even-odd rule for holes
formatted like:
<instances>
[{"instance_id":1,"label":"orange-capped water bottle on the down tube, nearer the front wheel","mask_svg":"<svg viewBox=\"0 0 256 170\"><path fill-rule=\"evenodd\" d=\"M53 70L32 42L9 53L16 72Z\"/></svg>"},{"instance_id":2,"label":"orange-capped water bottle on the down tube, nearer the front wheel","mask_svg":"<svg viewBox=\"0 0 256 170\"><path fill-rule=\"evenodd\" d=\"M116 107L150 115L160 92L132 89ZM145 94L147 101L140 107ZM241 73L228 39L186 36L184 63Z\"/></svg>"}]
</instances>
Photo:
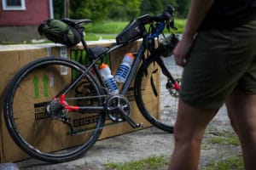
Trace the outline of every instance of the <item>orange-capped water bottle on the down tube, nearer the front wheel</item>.
<instances>
[{"instance_id":1,"label":"orange-capped water bottle on the down tube, nearer the front wheel","mask_svg":"<svg viewBox=\"0 0 256 170\"><path fill-rule=\"evenodd\" d=\"M130 70L131 65L134 59L134 55L132 53L125 54L125 57L122 63L119 65L119 69L116 73L115 80L116 82L123 83L125 82Z\"/></svg>"}]
</instances>

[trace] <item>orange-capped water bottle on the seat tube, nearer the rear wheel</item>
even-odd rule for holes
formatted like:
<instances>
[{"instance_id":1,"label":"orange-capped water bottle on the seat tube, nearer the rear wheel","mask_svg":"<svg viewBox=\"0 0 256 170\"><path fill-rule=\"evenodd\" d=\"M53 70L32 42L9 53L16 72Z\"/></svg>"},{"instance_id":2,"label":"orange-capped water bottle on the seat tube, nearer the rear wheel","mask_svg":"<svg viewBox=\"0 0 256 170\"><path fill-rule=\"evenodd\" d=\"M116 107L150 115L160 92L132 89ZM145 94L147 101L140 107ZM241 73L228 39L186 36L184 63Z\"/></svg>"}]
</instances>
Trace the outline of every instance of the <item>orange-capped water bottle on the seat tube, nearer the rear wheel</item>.
<instances>
[{"instance_id":1,"label":"orange-capped water bottle on the seat tube, nearer the rear wheel","mask_svg":"<svg viewBox=\"0 0 256 170\"><path fill-rule=\"evenodd\" d=\"M112 94L119 94L118 86L113 78L113 75L111 75L111 70L108 65L102 63L102 65L100 65L100 72L102 74L103 81L110 92Z\"/></svg>"}]
</instances>

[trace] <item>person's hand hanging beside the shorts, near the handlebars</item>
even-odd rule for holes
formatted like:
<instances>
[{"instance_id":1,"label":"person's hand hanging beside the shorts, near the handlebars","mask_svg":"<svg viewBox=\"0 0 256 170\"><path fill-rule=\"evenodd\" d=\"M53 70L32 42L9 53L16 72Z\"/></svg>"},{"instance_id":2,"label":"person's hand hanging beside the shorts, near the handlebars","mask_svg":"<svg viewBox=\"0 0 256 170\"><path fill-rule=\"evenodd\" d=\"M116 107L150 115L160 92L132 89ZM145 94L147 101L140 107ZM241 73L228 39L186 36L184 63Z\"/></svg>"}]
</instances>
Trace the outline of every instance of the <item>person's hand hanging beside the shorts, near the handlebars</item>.
<instances>
[{"instance_id":1,"label":"person's hand hanging beside the shorts, near the handlebars","mask_svg":"<svg viewBox=\"0 0 256 170\"><path fill-rule=\"evenodd\" d=\"M192 48L194 39L193 38L182 38L177 46L173 50L175 62L177 65L185 66L188 58L190 49Z\"/></svg>"}]
</instances>

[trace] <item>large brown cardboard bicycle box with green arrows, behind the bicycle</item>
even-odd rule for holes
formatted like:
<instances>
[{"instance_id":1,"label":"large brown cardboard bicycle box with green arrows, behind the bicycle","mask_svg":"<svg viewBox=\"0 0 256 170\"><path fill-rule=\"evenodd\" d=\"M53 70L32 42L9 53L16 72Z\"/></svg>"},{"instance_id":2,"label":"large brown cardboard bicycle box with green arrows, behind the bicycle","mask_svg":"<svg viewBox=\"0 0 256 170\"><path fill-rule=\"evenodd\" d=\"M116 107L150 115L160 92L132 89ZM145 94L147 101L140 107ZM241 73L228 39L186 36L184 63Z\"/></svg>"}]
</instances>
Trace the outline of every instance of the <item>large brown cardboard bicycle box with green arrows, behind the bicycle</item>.
<instances>
[{"instance_id":1,"label":"large brown cardboard bicycle box with green arrows, behind the bicycle","mask_svg":"<svg viewBox=\"0 0 256 170\"><path fill-rule=\"evenodd\" d=\"M108 56L104 62L108 62L111 66L113 73L115 73L118 69L119 63L123 59L123 56L127 52L136 52L137 47L140 42L131 43L124 48L120 48ZM94 42L90 42L90 47L95 45L101 45L105 47L113 46L113 42L102 42L100 44L96 44ZM44 56L61 56L61 57L68 57L72 59L76 59L77 61L86 64L86 59L83 59L84 51L80 46L74 47L72 49L66 48L64 46L59 46L55 44L46 44L46 45L32 45L32 46L1 46L0 47L0 56L3 57L2 61L0 62L0 94L1 94L1 105L3 105L3 93L4 88L9 82L9 79L13 77L15 71L17 71L20 67L26 65L29 61L33 59L38 59ZM44 72L38 71L35 73L37 77L44 77ZM55 75L55 74L53 74ZM69 75L69 76L68 76ZM55 77L55 83L59 83L61 86L62 82L70 81L71 73L67 73L67 77ZM131 87L133 87L133 83L131 83ZM26 84L26 93L28 96L35 95L33 94L33 84L27 83ZM38 87L39 90L43 89ZM49 93L54 91L55 89L49 89ZM39 94L38 94L39 95ZM151 126L141 115L140 111L138 111L137 104L134 100L133 91L128 92L127 97L131 101L131 118L136 122L143 122L144 127ZM29 100L29 99L26 99ZM79 144L83 141L83 138L86 138L85 134L70 136L67 135L67 125L63 124L62 122L53 122L51 119L45 117L44 107L42 105L45 101L44 96L38 96L37 103L34 104L34 108L32 108L32 112L20 113L19 116L27 117L27 120L31 120L29 122L20 122L22 127L22 132L27 135L29 138L32 139L34 144L41 144L44 150L61 150L67 147L73 146L75 144ZM20 107L25 107L20 105ZM155 108L159 111L159 108ZM5 122L3 120L3 109L1 108L0 116L0 161L1 162L8 162L8 161L19 161L22 159L26 159L29 156L26 155L20 148L14 143L14 141L9 136L9 133L5 127ZM93 119L95 116L81 116L79 114L72 115L74 119L74 126L77 130L83 131L84 128L90 127L93 125ZM36 125L35 126L35 122ZM40 122L41 124L38 124ZM88 123L90 122L90 123ZM49 132L45 127L54 127L54 130ZM29 127L29 128L26 128ZM33 129L29 132L27 129ZM100 139L109 138L115 135L119 135L122 133L131 132L133 129L127 122L121 123L113 123L110 120L106 120L105 127L102 130L102 135ZM59 133L63 131L63 133ZM75 139L75 140L73 140ZM44 141L42 143L42 141ZM55 141L55 142L52 142Z\"/></svg>"}]
</instances>

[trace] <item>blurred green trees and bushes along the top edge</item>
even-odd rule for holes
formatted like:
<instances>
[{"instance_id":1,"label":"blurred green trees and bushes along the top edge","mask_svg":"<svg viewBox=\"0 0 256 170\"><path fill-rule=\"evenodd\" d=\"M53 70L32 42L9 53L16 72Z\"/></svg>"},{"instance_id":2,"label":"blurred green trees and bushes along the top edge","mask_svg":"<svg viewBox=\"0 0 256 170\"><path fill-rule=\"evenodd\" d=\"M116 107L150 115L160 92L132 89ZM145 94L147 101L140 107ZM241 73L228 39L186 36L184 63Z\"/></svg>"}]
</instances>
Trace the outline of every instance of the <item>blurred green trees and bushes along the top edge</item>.
<instances>
[{"instance_id":1,"label":"blurred green trees and bushes along the top edge","mask_svg":"<svg viewBox=\"0 0 256 170\"><path fill-rule=\"evenodd\" d=\"M168 4L176 9L176 16L185 18L186 0L73 0L69 1L69 18L90 20L131 20L141 14L160 14ZM55 19L64 17L64 0L53 1Z\"/></svg>"}]
</instances>

